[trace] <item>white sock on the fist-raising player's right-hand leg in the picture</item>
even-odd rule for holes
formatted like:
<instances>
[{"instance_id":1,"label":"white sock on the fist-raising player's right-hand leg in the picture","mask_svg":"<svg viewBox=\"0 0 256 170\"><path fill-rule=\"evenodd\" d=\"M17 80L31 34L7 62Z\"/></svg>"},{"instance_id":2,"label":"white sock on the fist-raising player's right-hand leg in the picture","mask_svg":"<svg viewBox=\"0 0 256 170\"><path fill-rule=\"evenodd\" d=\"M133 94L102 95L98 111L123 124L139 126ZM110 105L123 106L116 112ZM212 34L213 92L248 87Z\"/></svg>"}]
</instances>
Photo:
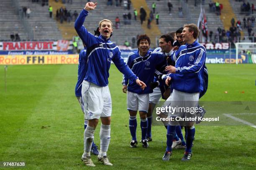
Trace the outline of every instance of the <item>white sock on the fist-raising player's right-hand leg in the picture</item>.
<instances>
[{"instance_id":1,"label":"white sock on the fist-raising player's right-hand leg in the picture","mask_svg":"<svg viewBox=\"0 0 256 170\"><path fill-rule=\"evenodd\" d=\"M110 143L110 125L100 127L100 157L107 156L108 145Z\"/></svg>"}]
</instances>

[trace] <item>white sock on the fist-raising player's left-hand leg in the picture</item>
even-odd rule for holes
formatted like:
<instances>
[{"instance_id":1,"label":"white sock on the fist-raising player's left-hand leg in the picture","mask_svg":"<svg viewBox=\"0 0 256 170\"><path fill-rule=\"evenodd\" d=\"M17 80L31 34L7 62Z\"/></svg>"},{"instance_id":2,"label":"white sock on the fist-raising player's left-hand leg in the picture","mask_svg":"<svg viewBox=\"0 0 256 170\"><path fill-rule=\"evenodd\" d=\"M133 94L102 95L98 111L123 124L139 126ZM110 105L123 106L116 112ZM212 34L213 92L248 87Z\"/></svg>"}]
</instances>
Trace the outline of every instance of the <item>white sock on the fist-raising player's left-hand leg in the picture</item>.
<instances>
[{"instance_id":1,"label":"white sock on the fist-raising player's left-hand leg in the picture","mask_svg":"<svg viewBox=\"0 0 256 170\"><path fill-rule=\"evenodd\" d=\"M92 148L94 131L95 131L95 128L93 128L89 125L87 125L86 129L84 130L84 154L83 154L83 157L91 156L90 151Z\"/></svg>"}]
</instances>

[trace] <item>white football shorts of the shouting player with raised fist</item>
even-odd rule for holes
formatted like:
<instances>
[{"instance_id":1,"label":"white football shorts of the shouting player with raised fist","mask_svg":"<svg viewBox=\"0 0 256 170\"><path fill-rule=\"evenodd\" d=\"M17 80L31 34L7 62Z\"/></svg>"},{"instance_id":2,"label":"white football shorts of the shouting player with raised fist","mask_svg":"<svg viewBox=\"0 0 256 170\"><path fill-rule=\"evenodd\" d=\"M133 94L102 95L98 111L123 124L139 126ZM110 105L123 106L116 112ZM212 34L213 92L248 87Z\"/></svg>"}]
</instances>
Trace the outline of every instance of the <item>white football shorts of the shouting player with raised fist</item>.
<instances>
[{"instance_id":1,"label":"white football shorts of the shouting player with raised fist","mask_svg":"<svg viewBox=\"0 0 256 170\"><path fill-rule=\"evenodd\" d=\"M82 107L86 120L111 116L112 102L108 86L100 87L84 80L82 83Z\"/></svg>"}]
</instances>

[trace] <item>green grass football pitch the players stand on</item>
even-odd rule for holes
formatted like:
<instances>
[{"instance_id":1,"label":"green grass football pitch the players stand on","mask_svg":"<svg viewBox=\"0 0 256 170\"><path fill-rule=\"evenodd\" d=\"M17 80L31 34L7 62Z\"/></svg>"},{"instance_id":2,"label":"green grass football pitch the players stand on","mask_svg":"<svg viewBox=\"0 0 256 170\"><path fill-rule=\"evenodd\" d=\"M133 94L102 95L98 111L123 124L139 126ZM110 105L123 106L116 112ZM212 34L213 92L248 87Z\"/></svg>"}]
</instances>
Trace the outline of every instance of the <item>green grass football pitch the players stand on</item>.
<instances>
[{"instance_id":1,"label":"green grass football pitch the players stand on","mask_svg":"<svg viewBox=\"0 0 256 170\"><path fill-rule=\"evenodd\" d=\"M208 64L207 67L209 89L201 100L255 101L256 65ZM114 65L109 77L113 110L108 151L113 167L97 163L94 155L96 168L84 167L80 160L83 113L74 97L76 80L77 65L8 66L5 92L4 67L0 66L0 162L25 161L23 169L30 170L255 169L256 128L246 125L196 126L193 156L185 163L181 162L182 150L174 150L169 162L161 160L166 147L166 130L161 126L152 127L153 141L148 149L141 145L129 148L126 95L122 92L122 75ZM95 132L97 145L99 125ZM137 134L139 138L139 124Z\"/></svg>"}]
</instances>

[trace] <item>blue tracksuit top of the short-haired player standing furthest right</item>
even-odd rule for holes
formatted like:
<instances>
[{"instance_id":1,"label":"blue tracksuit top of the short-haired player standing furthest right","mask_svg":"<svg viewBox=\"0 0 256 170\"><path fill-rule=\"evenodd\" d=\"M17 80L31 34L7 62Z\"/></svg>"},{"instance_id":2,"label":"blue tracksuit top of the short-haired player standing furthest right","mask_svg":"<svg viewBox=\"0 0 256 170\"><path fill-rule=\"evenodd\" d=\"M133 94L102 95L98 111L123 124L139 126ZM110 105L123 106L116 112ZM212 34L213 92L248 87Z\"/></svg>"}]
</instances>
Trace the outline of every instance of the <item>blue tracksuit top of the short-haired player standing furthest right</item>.
<instances>
[{"instance_id":1,"label":"blue tracksuit top of the short-haired player standing furthest right","mask_svg":"<svg viewBox=\"0 0 256 170\"><path fill-rule=\"evenodd\" d=\"M179 47L173 53L176 60L176 73L168 74L172 78L172 87L175 90L187 93L203 91L203 75L205 68L206 50L197 41Z\"/></svg>"}]
</instances>

